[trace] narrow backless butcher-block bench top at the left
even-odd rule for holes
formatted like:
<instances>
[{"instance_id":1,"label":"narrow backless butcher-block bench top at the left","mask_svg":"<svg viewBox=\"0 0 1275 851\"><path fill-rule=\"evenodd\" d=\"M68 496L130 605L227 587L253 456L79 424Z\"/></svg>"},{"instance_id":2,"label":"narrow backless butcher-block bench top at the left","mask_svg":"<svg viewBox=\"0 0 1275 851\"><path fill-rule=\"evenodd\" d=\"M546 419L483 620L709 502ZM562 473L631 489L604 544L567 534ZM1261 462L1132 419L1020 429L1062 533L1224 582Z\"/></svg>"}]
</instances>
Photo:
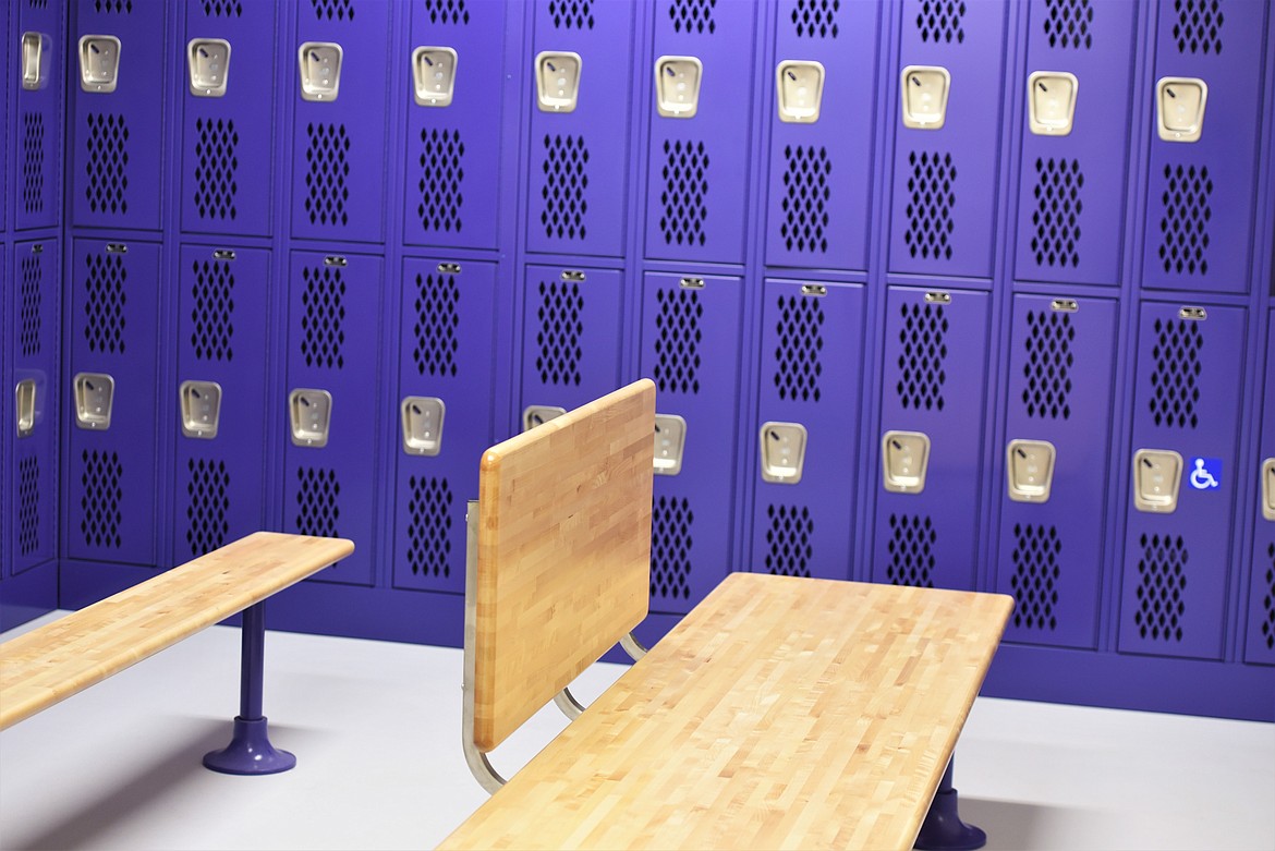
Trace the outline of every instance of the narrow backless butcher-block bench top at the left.
<instances>
[{"instance_id":1,"label":"narrow backless butcher-block bench top at the left","mask_svg":"<svg viewBox=\"0 0 1275 851\"><path fill-rule=\"evenodd\" d=\"M354 550L340 538L254 533L0 645L0 730Z\"/></svg>"}]
</instances>

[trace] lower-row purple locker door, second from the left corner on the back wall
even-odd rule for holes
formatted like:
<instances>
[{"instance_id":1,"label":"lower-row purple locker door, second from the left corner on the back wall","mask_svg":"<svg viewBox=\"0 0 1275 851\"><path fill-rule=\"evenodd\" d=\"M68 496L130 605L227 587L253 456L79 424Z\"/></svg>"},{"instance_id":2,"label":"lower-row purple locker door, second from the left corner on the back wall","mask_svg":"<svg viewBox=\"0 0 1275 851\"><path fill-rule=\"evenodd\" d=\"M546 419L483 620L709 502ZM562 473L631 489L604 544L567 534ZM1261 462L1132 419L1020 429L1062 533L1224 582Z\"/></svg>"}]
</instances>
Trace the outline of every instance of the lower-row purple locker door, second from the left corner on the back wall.
<instances>
[{"instance_id":1,"label":"lower-row purple locker door, second from the left corner on the back wall","mask_svg":"<svg viewBox=\"0 0 1275 851\"><path fill-rule=\"evenodd\" d=\"M177 382L162 395L177 414L173 564L264 527L269 268L259 248L181 250Z\"/></svg>"}]
</instances>

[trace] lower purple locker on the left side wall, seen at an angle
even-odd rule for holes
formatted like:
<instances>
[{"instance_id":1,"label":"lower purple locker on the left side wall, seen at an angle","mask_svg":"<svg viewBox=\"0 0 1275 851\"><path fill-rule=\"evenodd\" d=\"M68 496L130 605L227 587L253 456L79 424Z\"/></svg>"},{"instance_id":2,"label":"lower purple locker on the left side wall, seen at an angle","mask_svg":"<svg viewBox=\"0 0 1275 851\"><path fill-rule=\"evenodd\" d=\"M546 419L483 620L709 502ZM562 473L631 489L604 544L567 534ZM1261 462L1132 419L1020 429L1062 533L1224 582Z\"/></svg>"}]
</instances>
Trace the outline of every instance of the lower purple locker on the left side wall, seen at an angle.
<instances>
[{"instance_id":1,"label":"lower purple locker on the left side wall, seen at an angle","mask_svg":"<svg viewBox=\"0 0 1275 851\"><path fill-rule=\"evenodd\" d=\"M57 544L57 376L61 324L60 246L56 240L19 242L13 251L13 308L8 318L6 361L13 364L18 428L8 492L10 569L20 573L54 558ZM29 400L29 401L28 401ZM29 405L29 406L28 406ZM11 422L11 420L10 420ZM8 423L6 423L8 427Z\"/></svg>"}]
</instances>

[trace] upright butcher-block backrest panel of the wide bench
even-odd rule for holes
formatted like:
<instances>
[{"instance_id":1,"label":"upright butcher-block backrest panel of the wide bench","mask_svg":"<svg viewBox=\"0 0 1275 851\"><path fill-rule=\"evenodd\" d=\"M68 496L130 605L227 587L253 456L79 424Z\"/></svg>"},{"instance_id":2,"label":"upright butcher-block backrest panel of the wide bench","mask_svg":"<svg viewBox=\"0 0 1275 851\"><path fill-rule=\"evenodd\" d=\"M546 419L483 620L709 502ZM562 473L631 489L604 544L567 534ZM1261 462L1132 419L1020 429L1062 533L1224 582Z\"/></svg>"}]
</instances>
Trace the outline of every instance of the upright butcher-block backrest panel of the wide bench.
<instances>
[{"instance_id":1,"label":"upright butcher-block backrest panel of the wide bench","mask_svg":"<svg viewBox=\"0 0 1275 851\"><path fill-rule=\"evenodd\" d=\"M483 454L474 744L499 745L646 617L655 385Z\"/></svg>"}]
</instances>

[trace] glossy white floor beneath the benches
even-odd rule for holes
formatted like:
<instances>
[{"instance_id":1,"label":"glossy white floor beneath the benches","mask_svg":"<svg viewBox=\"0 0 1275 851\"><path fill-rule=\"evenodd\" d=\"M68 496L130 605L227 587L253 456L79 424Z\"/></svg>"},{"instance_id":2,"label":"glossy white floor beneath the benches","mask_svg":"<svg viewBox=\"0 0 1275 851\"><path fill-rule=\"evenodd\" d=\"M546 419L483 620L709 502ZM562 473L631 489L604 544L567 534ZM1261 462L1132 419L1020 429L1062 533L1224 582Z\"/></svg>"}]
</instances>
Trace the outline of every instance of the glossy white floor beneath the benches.
<instances>
[{"instance_id":1,"label":"glossy white floor beneath the benches","mask_svg":"<svg viewBox=\"0 0 1275 851\"><path fill-rule=\"evenodd\" d=\"M283 775L200 766L237 689L238 631L214 627L0 734L0 848L425 848L484 799L456 650L269 633ZM515 771L564 724L550 707L492 762ZM956 786L988 848L1275 850L1271 724L982 698Z\"/></svg>"}]
</instances>

